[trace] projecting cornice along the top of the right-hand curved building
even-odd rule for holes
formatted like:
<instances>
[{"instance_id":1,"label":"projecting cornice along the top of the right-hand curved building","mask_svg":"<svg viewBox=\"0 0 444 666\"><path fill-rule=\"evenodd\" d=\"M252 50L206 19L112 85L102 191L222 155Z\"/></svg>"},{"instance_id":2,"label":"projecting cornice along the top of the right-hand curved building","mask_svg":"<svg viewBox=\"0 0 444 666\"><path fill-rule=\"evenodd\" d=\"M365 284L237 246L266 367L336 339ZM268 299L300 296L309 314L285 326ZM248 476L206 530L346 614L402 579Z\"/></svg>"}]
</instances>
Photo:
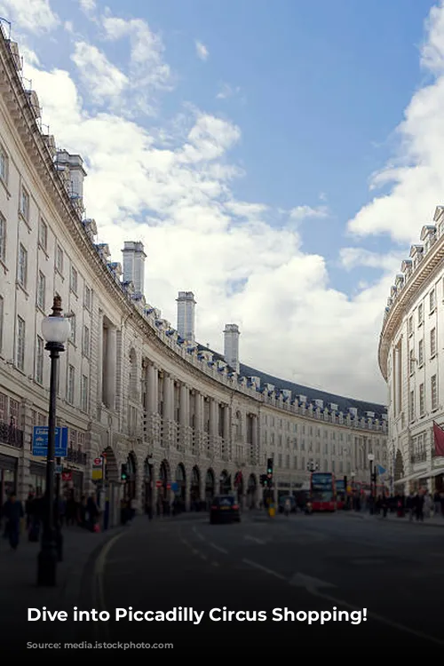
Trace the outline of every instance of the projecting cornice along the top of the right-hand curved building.
<instances>
[{"instance_id":1,"label":"projecting cornice along the top of the right-hand curved building","mask_svg":"<svg viewBox=\"0 0 444 666\"><path fill-rule=\"evenodd\" d=\"M379 337L378 362L379 369L387 381L387 359L393 337L400 328L403 317L408 313L411 305L415 303L418 291L424 289L440 269L444 259L444 235L442 235L432 248L424 255L424 259L416 267L416 271L408 278L403 289L400 290L389 313L383 323Z\"/></svg>"}]
</instances>

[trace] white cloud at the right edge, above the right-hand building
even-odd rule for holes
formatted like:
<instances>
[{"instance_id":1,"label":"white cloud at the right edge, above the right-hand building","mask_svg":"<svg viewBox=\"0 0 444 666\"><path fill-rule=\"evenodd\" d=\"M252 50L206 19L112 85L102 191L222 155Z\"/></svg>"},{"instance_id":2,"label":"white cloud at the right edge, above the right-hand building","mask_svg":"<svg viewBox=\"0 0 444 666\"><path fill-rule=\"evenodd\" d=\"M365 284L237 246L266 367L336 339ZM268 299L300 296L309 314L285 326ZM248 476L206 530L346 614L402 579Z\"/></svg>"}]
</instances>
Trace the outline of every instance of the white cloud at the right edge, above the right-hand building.
<instances>
[{"instance_id":1,"label":"white cloud at the right edge, above the right-hand building","mask_svg":"<svg viewBox=\"0 0 444 666\"><path fill-rule=\"evenodd\" d=\"M349 221L359 236L389 234L397 242L417 241L444 192L444 6L432 8L421 58L433 75L416 91L398 127L400 152L371 179L371 188L389 186Z\"/></svg>"}]
</instances>

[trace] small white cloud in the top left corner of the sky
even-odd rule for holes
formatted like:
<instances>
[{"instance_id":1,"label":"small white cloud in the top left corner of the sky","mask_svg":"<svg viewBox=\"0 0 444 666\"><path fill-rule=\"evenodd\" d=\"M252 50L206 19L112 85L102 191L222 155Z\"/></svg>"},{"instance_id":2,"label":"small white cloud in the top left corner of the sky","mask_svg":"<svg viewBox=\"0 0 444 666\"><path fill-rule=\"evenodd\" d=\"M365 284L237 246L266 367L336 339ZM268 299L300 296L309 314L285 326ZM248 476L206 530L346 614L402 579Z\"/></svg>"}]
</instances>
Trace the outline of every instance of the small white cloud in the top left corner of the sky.
<instances>
[{"instance_id":1,"label":"small white cloud in the top left corner of the sky","mask_svg":"<svg viewBox=\"0 0 444 666\"><path fill-rule=\"evenodd\" d=\"M52 11L49 0L1 0L1 15L15 25L36 35L51 32L59 25L59 17Z\"/></svg>"}]
</instances>

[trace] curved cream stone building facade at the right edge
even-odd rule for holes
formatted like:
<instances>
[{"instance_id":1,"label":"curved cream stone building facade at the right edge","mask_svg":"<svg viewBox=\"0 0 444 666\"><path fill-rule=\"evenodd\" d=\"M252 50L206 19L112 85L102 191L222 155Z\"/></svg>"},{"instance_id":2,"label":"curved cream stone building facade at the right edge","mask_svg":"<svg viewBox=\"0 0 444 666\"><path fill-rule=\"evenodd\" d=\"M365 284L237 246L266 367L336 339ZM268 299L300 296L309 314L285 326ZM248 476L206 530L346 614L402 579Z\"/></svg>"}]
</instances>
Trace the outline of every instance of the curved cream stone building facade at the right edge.
<instances>
[{"instance_id":1,"label":"curved cream stone building facade at the right edge","mask_svg":"<svg viewBox=\"0 0 444 666\"><path fill-rule=\"evenodd\" d=\"M394 479L405 491L443 487L433 422L444 423L444 208L422 228L385 307L379 366L388 386L388 446Z\"/></svg>"}]
</instances>

